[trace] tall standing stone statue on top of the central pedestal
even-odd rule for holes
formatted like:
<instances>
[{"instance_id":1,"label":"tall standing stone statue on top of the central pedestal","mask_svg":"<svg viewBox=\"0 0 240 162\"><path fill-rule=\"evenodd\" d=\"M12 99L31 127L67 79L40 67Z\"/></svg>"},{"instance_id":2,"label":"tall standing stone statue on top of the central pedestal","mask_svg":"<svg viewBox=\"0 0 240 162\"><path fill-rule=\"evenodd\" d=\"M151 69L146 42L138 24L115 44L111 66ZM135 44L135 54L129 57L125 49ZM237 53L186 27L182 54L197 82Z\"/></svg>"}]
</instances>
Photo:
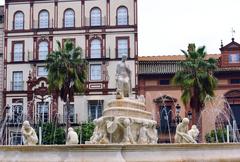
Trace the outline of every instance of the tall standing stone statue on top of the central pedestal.
<instances>
[{"instance_id":1,"label":"tall standing stone statue on top of the central pedestal","mask_svg":"<svg viewBox=\"0 0 240 162\"><path fill-rule=\"evenodd\" d=\"M122 61L117 65L116 70L116 83L117 92L121 93L123 97L129 97L131 95L131 70L126 65L126 55L122 55ZM117 96L119 98L119 95Z\"/></svg>"}]
</instances>

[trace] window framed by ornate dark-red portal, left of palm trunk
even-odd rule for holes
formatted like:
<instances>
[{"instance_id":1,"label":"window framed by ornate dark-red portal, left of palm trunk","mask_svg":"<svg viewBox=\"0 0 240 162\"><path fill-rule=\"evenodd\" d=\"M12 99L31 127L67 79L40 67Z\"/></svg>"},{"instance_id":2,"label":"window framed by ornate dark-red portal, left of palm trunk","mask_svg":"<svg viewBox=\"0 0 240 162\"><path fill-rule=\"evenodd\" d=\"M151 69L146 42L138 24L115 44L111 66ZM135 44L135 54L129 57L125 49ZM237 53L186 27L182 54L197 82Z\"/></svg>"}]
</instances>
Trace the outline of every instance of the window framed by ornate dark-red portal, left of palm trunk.
<instances>
[{"instance_id":1,"label":"window framed by ornate dark-red portal, left of palm trunk","mask_svg":"<svg viewBox=\"0 0 240 162\"><path fill-rule=\"evenodd\" d=\"M38 121L41 123L48 122L49 118L49 103L48 102L38 102L37 103L38 110Z\"/></svg>"}]
</instances>

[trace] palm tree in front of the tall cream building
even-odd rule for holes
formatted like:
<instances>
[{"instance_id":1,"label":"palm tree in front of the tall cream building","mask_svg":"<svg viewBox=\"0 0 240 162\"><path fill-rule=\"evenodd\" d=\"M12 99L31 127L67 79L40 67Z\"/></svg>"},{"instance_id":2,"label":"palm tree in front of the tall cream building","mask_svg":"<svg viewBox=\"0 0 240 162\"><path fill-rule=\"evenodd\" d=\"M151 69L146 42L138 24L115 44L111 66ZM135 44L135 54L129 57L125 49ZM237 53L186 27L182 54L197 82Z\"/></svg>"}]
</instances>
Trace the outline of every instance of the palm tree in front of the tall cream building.
<instances>
[{"instance_id":1,"label":"palm tree in front of the tall cream building","mask_svg":"<svg viewBox=\"0 0 240 162\"><path fill-rule=\"evenodd\" d=\"M74 46L67 40L63 47L57 41L58 49L48 55L46 60L48 70L49 91L57 91L60 98L66 103L67 125L70 125L70 101L75 92L84 91L84 82L87 76L87 62L82 58L82 49Z\"/></svg>"}]
</instances>

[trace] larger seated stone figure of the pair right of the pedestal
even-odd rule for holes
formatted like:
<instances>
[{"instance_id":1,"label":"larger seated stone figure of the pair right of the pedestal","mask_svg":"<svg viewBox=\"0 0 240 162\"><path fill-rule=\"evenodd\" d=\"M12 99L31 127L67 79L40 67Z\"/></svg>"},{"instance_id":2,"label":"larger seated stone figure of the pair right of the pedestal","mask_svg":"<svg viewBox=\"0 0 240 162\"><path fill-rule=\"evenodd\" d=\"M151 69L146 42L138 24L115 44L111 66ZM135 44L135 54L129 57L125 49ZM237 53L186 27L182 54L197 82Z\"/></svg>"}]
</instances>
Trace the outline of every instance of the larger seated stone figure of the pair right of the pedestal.
<instances>
[{"instance_id":1,"label":"larger seated stone figure of the pair right of the pedestal","mask_svg":"<svg viewBox=\"0 0 240 162\"><path fill-rule=\"evenodd\" d=\"M183 118L182 122L177 125L175 134L175 143L197 143L192 136L188 134L188 118Z\"/></svg>"}]
</instances>

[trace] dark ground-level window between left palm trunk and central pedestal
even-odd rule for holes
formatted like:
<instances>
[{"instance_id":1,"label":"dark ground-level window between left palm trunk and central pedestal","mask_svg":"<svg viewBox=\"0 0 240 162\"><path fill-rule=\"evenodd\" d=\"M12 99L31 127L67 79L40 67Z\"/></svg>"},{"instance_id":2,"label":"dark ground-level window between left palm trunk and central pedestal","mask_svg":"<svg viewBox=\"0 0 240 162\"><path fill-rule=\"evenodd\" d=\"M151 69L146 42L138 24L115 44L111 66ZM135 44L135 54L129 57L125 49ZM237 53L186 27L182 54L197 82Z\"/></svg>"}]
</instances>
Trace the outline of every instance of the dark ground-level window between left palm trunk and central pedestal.
<instances>
[{"instance_id":1,"label":"dark ground-level window between left palm trunk and central pedestal","mask_svg":"<svg viewBox=\"0 0 240 162\"><path fill-rule=\"evenodd\" d=\"M102 116L103 100L89 100L88 101L88 119L93 121Z\"/></svg>"}]
</instances>

